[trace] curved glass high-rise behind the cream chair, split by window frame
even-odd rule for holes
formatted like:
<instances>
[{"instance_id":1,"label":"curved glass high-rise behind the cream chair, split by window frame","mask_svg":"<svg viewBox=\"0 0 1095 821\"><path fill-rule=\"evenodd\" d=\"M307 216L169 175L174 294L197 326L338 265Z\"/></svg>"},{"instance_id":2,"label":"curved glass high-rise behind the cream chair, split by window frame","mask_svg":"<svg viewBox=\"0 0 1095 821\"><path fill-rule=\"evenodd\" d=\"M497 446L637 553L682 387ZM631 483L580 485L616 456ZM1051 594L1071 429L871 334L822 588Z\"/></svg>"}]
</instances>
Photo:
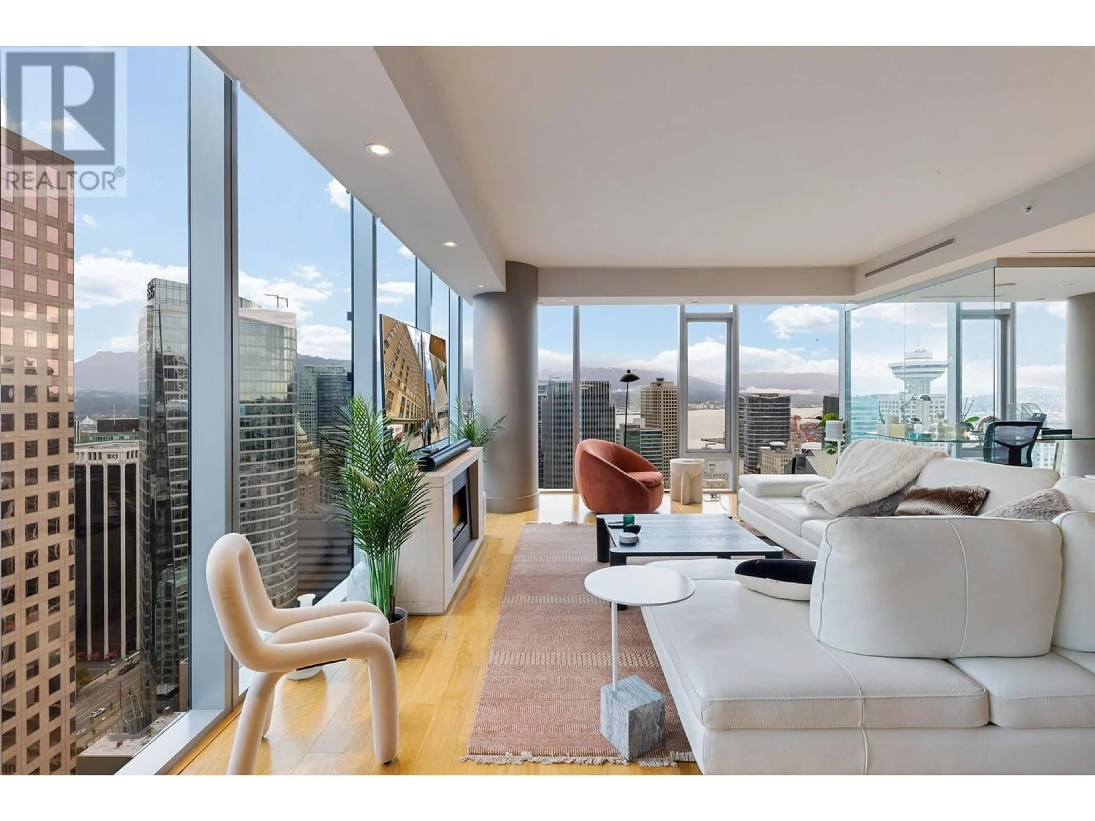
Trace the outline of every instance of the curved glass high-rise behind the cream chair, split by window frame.
<instances>
[{"instance_id":1,"label":"curved glass high-rise behind the cream chair, split by window frame","mask_svg":"<svg viewBox=\"0 0 1095 821\"><path fill-rule=\"evenodd\" d=\"M143 464L141 657L159 708L178 709L188 658L188 289L153 279L138 323ZM296 314L240 300L240 532L277 606L297 593Z\"/></svg>"}]
</instances>

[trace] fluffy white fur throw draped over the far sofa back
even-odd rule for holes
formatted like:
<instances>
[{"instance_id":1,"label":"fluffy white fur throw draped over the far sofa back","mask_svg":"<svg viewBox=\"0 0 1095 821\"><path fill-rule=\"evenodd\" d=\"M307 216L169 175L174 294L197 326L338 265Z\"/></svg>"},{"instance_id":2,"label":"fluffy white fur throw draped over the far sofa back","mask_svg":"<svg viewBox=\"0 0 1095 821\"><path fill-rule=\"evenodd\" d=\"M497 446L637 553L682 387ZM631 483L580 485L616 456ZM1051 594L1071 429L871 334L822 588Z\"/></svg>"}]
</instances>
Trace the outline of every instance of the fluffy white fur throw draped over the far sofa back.
<instances>
[{"instance_id":1,"label":"fluffy white fur throw draped over the far sofa back","mask_svg":"<svg viewBox=\"0 0 1095 821\"><path fill-rule=\"evenodd\" d=\"M803 498L841 516L861 505L885 499L920 475L924 465L946 453L885 439L856 439L840 454L837 471L823 485L803 490Z\"/></svg>"}]
</instances>

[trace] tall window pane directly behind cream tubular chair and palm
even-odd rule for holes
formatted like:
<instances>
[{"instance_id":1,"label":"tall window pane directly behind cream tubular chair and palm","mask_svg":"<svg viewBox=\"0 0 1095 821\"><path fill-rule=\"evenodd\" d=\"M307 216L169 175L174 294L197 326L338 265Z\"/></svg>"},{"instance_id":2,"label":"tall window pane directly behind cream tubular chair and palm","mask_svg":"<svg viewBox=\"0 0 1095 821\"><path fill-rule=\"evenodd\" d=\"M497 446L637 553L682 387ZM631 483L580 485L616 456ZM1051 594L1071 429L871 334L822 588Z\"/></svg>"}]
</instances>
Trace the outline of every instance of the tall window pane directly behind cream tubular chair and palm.
<instances>
[{"instance_id":1,"label":"tall window pane directly behind cream tubular chair and palm","mask_svg":"<svg viewBox=\"0 0 1095 821\"><path fill-rule=\"evenodd\" d=\"M353 565L320 470L351 393L350 198L242 91L237 122L239 529L289 606Z\"/></svg>"}]
</instances>

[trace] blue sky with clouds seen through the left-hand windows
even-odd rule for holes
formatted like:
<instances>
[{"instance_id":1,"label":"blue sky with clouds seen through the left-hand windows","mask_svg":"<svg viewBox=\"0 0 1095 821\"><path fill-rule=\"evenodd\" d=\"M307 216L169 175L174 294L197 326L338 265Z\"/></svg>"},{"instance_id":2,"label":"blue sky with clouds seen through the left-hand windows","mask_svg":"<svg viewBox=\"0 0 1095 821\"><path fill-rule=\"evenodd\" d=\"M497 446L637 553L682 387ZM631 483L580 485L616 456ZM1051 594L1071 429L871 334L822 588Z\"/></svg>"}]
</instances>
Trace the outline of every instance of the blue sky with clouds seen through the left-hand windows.
<instances>
[{"instance_id":1,"label":"blue sky with clouds seen through the left-hand windows","mask_svg":"<svg viewBox=\"0 0 1095 821\"><path fill-rule=\"evenodd\" d=\"M77 360L135 350L148 281L188 276L187 53L130 48L127 62L127 196L76 203ZM240 294L295 313L301 354L348 359L349 193L246 94L239 101ZM44 141L48 125L25 131ZM413 321L414 254L378 226L377 257L380 310Z\"/></svg>"}]
</instances>

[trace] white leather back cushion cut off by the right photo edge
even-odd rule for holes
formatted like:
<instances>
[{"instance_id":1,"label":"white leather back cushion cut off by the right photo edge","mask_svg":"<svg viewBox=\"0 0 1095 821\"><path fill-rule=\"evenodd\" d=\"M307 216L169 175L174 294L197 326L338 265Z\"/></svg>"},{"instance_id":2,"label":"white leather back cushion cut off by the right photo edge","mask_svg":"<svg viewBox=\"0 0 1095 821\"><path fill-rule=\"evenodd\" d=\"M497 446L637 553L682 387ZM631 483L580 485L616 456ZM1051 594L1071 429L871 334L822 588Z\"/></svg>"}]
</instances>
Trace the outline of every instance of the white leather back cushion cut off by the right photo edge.
<instances>
[{"instance_id":1,"label":"white leather back cushion cut off by the right photo edge","mask_svg":"<svg viewBox=\"0 0 1095 821\"><path fill-rule=\"evenodd\" d=\"M1061 513L1053 523L1064 563L1053 645L1095 652L1095 513Z\"/></svg>"}]
</instances>

